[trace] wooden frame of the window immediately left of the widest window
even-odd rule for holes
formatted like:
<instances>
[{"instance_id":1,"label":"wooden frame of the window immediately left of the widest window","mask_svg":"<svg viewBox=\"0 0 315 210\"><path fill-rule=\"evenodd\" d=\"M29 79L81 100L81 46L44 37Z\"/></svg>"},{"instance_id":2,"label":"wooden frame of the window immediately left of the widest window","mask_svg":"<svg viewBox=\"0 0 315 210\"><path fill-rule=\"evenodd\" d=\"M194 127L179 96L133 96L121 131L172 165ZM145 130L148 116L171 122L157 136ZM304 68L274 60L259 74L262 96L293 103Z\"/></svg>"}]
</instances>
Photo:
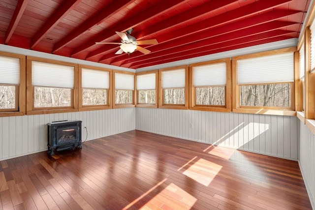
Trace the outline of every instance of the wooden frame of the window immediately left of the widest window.
<instances>
[{"instance_id":1,"label":"wooden frame of the window immediately left of the widest window","mask_svg":"<svg viewBox=\"0 0 315 210\"><path fill-rule=\"evenodd\" d=\"M195 104L195 88L193 86L193 67L211 65L216 63L226 63L226 85L225 87L225 105L216 106L216 105L196 105ZM230 58L220 59L220 60L211 60L206 62L193 63L189 65L189 109L191 110L203 110L203 111L213 111L213 112L231 112L232 104L232 69L231 69L231 60ZM207 86L208 87L208 86ZM209 86L215 87L215 86ZM220 86L222 87L222 86Z\"/></svg>"}]
</instances>

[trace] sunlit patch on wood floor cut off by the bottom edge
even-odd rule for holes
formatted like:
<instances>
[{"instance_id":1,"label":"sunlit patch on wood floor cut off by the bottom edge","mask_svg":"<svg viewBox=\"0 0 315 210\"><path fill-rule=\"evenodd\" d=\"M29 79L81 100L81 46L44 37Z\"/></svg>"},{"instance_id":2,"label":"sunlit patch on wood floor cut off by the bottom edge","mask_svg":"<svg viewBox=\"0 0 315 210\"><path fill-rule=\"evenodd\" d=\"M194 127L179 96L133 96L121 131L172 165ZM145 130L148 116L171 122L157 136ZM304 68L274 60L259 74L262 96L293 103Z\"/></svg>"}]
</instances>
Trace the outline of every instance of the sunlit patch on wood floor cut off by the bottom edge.
<instances>
[{"instance_id":1,"label":"sunlit patch on wood floor cut off by the bottom edge","mask_svg":"<svg viewBox=\"0 0 315 210\"><path fill-rule=\"evenodd\" d=\"M189 210L196 201L197 199L188 192L171 183L146 203L141 210Z\"/></svg>"}]
</instances>

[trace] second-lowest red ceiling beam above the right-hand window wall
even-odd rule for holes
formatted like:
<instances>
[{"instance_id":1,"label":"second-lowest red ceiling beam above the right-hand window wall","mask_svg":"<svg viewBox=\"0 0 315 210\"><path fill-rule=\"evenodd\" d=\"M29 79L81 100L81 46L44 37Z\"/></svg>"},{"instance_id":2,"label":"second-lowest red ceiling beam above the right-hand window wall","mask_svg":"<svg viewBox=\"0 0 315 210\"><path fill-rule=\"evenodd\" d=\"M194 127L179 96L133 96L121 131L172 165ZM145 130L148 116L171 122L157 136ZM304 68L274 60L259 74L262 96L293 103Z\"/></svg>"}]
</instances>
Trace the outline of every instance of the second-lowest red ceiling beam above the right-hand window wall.
<instances>
[{"instance_id":1,"label":"second-lowest red ceiling beam above the right-hand window wall","mask_svg":"<svg viewBox=\"0 0 315 210\"><path fill-rule=\"evenodd\" d=\"M169 57L172 57L173 54L178 54L179 52L181 54L187 54L187 52L191 52L192 50L199 50L200 48L203 47L210 47L212 48L213 45L218 45L220 43L224 43L227 41L232 41L232 40L237 40L237 39L241 39L241 38L245 38L245 39L251 39L251 37L257 37L256 34L267 34L268 31L274 31L274 30L278 30L281 28L285 28L287 26L293 25L296 23L289 23L289 22L280 22L280 21L274 21L271 23L265 23L265 24L261 24L261 25L257 25L251 28L247 28L247 29L243 29L243 30L238 30L235 32L232 32L230 34L222 34L220 36L216 36L213 38L209 38L209 39L204 39L202 41L198 41L195 43L189 43L183 46L179 46L179 47L174 47L172 49L167 49L167 55ZM285 32L285 30L281 30L284 31L284 33L292 33L292 32L296 32L296 31L289 31L289 32ZM283 35L283 34L281 34ZM156 60L159 58L163 58L165 56L165 52L164 51L160 51L158 53L152 53L147 55L145 57L145 59L142 59L141 61L135 62L135 63L146 63L148 62L148 60ZM127 60L127 62L132 62L132 60Z\"/></svg>"}]
</instances>

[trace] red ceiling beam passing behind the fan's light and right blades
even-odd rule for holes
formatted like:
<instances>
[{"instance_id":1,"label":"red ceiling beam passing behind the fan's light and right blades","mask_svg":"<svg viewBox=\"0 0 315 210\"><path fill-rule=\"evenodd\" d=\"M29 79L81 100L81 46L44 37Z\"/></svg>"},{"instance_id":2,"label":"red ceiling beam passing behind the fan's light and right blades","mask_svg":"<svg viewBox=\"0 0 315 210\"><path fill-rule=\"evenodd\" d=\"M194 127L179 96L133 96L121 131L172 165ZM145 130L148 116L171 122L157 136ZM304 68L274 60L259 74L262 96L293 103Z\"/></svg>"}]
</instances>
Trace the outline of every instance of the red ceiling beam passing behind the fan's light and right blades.
<instances>
[{"instance_id":1,"label":"red ceiling beam passing behind the fan's light and right blades","mask_svg":"<svg viewBox=\"0 0 315 210\"><path fill-rule=\"evenodd\" d=\"M134 37L137 37L137 40L142 40L147 38L149 35L152 35L154 33L161 32L162 30L168 30L172 27L176 27L178 25L183 25L187 22L192 23L193 20L198 19L200 17L205 17L207 19L207 16L209 16L209 13L212 13L213 11L222 8L226 5L229 5L231 3L235 2L235 0L220 0L220 1L210 1L208 3L202 4L201 6L194 7L192 9L189 9L189 12L183 12L181 14L175 15L166 21L162 21L158 24L155 24L154 27L142 29L141 31L135 31L132 35ZM236 2L237 3L237 2ZM90 59L92 57L98 56L104 51L108 51L106 47L100 47L99 49L91 52L86 59Z\"/></svg>"}]
</instances>

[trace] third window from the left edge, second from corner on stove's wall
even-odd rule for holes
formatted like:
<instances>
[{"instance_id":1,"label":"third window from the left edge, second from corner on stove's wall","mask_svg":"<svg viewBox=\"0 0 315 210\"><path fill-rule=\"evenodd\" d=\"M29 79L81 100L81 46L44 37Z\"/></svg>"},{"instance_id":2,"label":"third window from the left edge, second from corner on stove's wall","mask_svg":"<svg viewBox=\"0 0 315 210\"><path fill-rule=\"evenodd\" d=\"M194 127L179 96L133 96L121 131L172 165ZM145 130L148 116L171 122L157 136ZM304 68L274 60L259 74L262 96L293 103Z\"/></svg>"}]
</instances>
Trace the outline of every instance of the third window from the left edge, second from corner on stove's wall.
<instances>
[{"instance_id":1,"label":"third window from the left edge, second from corner on stove's wall","mask_svg":"<svg viewBox=\"0 0 315 210\"><path fill-rule=\"evenodd\" d=\"M82 108L84 110L111 108L111 70L80 65L79 75L81 75L81 80L79 80L81 81L80 110Z\"/></svg>"}]
</instances>

